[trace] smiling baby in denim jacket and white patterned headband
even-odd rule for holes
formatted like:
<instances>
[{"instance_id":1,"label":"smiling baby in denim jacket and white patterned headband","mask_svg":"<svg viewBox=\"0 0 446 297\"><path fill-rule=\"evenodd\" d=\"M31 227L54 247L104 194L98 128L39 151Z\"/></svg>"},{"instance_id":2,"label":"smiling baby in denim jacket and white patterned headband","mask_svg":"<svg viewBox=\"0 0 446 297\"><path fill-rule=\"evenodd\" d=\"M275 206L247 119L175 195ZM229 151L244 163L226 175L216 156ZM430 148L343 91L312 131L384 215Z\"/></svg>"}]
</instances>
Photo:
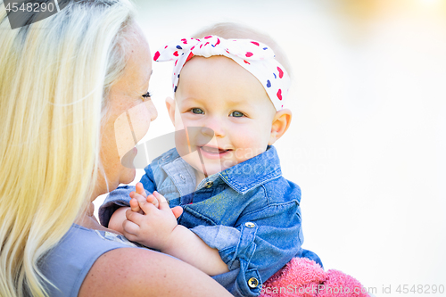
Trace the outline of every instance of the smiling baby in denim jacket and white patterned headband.
<instances>
[{"instance_id":1,"label":"smiling baby in denim jacket and white patterned headband","mask_svg":"<svg viewBox=\"0 0 446 297\"><path fill-rule=\"evenodd\" d=\"M283 108L288 64L272 39L240 25L218 24L196 37L154 56L176 61L175 101L166 100L176 148L147 166L136 188L111 192L99 217L129 240L202 269L235 296L257 296L293 257L320 263L301 248L301 190L282 177L272 146L292 119Z\"/></svg>"}]
</instances>

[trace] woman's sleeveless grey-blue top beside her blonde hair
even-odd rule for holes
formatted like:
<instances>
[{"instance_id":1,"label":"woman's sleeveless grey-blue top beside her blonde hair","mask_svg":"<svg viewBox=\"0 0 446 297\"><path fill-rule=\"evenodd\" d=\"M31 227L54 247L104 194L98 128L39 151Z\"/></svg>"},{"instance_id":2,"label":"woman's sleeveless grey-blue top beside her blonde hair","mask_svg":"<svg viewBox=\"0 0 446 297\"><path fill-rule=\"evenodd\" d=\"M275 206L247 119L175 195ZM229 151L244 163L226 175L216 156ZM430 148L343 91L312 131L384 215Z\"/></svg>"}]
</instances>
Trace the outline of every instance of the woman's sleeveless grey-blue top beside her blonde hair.
<instances>
[{"instance_id":1,"label":"woman's sleeveless grey-blue top beside her blonde hair","mask_svg":"<svg viewBox=\"0 0 446 297\"><path fill-rule=\"evenodd\" d=\"M44 276L56 286L45 285L52 297L76 297L88 271L104 252L136 247L126 237L73 224L62 240L39 262Z\"/></svg>"}]
</instances>

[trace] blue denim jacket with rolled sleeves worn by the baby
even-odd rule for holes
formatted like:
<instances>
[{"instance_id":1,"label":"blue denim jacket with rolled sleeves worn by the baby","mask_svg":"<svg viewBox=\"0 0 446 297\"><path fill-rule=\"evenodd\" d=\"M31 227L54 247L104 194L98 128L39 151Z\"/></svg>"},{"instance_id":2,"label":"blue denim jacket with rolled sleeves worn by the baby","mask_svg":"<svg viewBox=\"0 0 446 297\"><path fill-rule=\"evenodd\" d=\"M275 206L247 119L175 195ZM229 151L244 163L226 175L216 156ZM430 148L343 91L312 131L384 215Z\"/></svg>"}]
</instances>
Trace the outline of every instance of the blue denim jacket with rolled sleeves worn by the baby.
<instances>
[{"instance_id":1,"label":"blue denim jacket with rolled sleeves worn by the baby","mask_svg":"<svg viewBox=\"0 0 446 297\"><path fill-rule=\"evenodd\" d=\"M158 191L169 206L184 209L178 224L219 251L229 272L213 276L235 296L257 296L260 285L293 257L316 260L301 248L301 189L282 177L274 146L214 174L195 190L194 169L171 149L145 168L141 183ZM111 214L128 206L135 186L120 186L99 209L103 226Z\"/></svg>"}]
</instances>

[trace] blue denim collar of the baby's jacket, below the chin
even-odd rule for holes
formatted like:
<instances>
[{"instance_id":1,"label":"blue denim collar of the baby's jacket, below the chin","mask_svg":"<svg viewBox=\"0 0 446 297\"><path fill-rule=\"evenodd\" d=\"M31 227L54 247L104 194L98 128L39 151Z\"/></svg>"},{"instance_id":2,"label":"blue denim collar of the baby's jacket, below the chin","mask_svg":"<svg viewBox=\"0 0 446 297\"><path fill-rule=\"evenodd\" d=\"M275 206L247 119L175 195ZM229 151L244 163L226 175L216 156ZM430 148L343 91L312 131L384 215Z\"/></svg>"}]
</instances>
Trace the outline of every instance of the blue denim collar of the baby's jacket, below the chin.
<instances>
[{"instance_id":1,"label":"blue denim collar of the baby's jacket, below the chin","mask_svg":"<svg viewBox=\"0 0 446 297\"><path fill-rule=\"evenodd\" d=\"M179 156L177 150L173 149L171 153L163 156L160 165L178 187L180 195L191 194L196 190L194 169ZM246 194L253 188L281 176L276 148L268 145L265 152L202 180L197 189L202 188L207 181L216 181L221 177L221 180L238 194Z\"/></svg>"}]
</instances>

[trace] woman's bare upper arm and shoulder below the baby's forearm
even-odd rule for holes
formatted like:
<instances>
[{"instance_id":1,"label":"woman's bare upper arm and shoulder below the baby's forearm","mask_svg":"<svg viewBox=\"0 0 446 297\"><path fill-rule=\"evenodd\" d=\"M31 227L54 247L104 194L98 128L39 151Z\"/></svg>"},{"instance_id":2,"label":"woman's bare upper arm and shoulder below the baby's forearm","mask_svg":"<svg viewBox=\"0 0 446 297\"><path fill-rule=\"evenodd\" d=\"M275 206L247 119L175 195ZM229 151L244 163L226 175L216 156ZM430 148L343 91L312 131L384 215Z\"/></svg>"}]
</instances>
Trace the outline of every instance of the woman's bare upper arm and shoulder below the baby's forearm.
<instances>
[{"instance_id":1,"label":"woman's bare upper arm and shoulder below the baby's forearm","mask_svg":"<svg viewBox=\"0 0 446 297\"><path fill-rule=\"evenodd\" d=\"M210 276L160 252L120 248L105 252L88 272L79 297L232 296Z\"/></svg>"}]
</instances>

